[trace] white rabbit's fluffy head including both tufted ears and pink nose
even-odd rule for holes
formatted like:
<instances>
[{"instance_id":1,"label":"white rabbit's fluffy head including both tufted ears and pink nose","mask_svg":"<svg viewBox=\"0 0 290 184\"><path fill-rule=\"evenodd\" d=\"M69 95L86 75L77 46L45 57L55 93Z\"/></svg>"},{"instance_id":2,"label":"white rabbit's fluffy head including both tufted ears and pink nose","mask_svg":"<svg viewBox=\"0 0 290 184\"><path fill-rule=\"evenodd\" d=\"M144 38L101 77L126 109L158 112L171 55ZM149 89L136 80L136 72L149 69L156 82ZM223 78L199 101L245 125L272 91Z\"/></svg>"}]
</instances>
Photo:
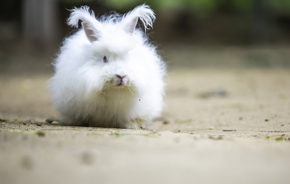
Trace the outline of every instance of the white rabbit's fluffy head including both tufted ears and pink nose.
<instances>
[{"instance_id":1,"label":"white rabbit's fluffy head including both tufted ears and pink nose","mask_svg":"<svg viewBox=\"0 0 290 184\"><path fill-rule=\"evenodd\" d=\"M112 89L129 90L137 93L140 88L150 83L152 67L147 60L158 60L155 48L145 47L146 37L141 29L136 29L138 19L145 31L155 20L153 10L146 5L136 7L131 12L120 16L111 14L95 18L87 6L71 10L68 25L81 25L86 35L81 46L82 58L76 62L76 75L86 83L87 92ZM143 36L140 36L143 35Z\"/></svg>"}]
</instances>

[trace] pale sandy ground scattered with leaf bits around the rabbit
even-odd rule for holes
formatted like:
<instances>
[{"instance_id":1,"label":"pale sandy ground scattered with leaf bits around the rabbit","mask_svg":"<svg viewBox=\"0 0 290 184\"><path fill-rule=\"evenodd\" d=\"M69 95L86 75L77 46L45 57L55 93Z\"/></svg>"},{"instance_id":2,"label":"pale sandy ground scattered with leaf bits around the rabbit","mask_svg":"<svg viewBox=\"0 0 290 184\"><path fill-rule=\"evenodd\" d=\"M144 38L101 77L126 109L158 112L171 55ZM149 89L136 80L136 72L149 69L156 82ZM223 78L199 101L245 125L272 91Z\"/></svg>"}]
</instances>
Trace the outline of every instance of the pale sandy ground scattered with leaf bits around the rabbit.
<instances>
[{"instance_id":1,"label":"pale sandy ground scattered with leaf bits around the rabbit","mask_svg":"<svg viewBox=\"0 0 290 184\"><path fill-rule=\"evenodd\" d=\"M1 75L0 183L290 181L289 69L170 69L155 132L45 123L49 77Z\"/></svg>"}]
</instances>

